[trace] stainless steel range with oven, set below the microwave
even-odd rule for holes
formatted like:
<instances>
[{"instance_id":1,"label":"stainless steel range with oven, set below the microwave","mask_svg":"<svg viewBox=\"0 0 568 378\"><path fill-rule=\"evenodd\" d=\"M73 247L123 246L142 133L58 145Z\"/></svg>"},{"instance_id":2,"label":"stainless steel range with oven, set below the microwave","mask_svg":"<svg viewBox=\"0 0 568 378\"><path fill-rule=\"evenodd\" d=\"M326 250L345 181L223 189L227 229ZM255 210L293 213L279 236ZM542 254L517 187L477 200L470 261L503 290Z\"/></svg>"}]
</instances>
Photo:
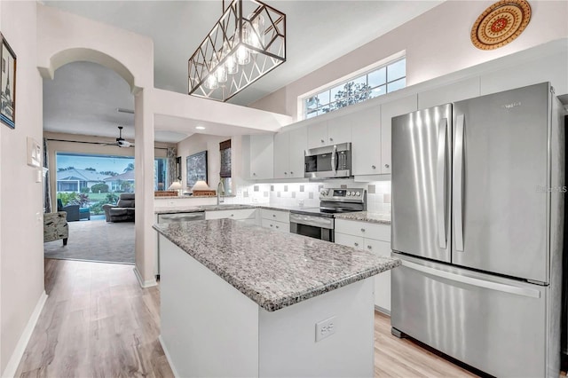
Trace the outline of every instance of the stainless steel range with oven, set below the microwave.
<instances>
[{"instance_id":1,"label":"stainless steel range with oven, set below the microwave","mask_svg":"<svg viewBox=\"0 0 568 378\"><path fill-rule=\"evenodd\" d=\"M366 209L365 189L322 189L319 208L290 210L290 232L335 241L335 214Z\"/></svg>"}]
</instances>

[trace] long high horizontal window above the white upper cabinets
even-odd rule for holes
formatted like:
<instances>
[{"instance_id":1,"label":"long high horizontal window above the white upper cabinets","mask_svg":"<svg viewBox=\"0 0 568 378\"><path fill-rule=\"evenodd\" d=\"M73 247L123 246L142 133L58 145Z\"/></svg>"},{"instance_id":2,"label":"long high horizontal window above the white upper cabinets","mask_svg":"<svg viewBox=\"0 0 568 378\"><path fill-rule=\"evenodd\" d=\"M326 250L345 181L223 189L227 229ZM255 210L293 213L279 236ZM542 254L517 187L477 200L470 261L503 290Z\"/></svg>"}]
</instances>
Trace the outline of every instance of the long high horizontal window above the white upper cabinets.
<instances>
[{"instance_id":1,"label":"long high horizontal window above the white upper cabinets","mask_svg":"<svg viewBox=\"0 0 568 378\"><path fill-rule=\"evenodd\" d=\"M406 87L406 58L376 67L303 99L304 119L333 112Z\"/></svg>"}]
</instances>

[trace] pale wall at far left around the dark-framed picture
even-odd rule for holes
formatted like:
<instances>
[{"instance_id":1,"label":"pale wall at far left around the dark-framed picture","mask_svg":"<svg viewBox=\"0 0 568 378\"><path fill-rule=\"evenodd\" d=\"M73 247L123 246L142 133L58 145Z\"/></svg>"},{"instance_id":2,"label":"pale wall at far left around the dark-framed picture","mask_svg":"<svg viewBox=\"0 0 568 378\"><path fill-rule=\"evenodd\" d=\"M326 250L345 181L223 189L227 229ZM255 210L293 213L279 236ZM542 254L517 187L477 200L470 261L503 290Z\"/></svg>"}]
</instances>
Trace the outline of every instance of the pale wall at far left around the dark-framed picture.
<instances>
[{"instance_id":1,"label":"pale wall at far left around the dark-framed picture","mask_svg":"<svg viewBox=\"0 0 568 378\"><path fill-rule=\"evenodd\" d=\"M0 10L2 33L18 59L16 129L0 124L0 372L4 376L43 295L43 190L36 183L36 169L26 163L27 138L42 141L43 104L42 78L36 68L36 2L3 1Z\"/></svg>"}]
</instances>

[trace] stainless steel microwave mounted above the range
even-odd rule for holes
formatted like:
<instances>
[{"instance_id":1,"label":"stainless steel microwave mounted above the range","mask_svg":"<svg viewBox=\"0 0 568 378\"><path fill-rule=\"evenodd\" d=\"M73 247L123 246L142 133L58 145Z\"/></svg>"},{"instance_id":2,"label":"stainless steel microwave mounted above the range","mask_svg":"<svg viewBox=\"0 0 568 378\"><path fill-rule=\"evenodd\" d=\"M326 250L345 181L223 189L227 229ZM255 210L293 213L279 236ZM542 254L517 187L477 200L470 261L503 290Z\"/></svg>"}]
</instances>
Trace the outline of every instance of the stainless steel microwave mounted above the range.
<instances>
[{"instance_id":1,"label":"stainless steel microwave mounted above the range","mask_svg":"<svg viewBox=\"0 0 568 378\"><path fill-rule=\"evenodd\" d=\"M305 150L304 177L351 177L351 143Z\"/></svg>"}]
</instances>

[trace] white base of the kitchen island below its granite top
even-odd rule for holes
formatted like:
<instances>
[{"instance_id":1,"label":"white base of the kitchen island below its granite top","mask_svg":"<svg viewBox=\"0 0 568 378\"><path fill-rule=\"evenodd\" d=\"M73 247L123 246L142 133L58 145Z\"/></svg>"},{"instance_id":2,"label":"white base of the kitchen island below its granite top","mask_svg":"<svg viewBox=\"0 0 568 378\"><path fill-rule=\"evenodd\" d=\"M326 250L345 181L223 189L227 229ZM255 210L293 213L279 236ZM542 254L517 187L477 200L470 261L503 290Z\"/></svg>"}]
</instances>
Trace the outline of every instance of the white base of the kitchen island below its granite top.
<instances>
[{"instance_id":1,"label":"white base of the kitchen island below its granite top","mask_svg":"<svg viewBox=\"0 0 568 378\"><path fill-rule=\"evenodd\" d=\"M160 341L177 377L374 375L373 277L270 312L159 237Z\"/></svg>"}]
</instances>

